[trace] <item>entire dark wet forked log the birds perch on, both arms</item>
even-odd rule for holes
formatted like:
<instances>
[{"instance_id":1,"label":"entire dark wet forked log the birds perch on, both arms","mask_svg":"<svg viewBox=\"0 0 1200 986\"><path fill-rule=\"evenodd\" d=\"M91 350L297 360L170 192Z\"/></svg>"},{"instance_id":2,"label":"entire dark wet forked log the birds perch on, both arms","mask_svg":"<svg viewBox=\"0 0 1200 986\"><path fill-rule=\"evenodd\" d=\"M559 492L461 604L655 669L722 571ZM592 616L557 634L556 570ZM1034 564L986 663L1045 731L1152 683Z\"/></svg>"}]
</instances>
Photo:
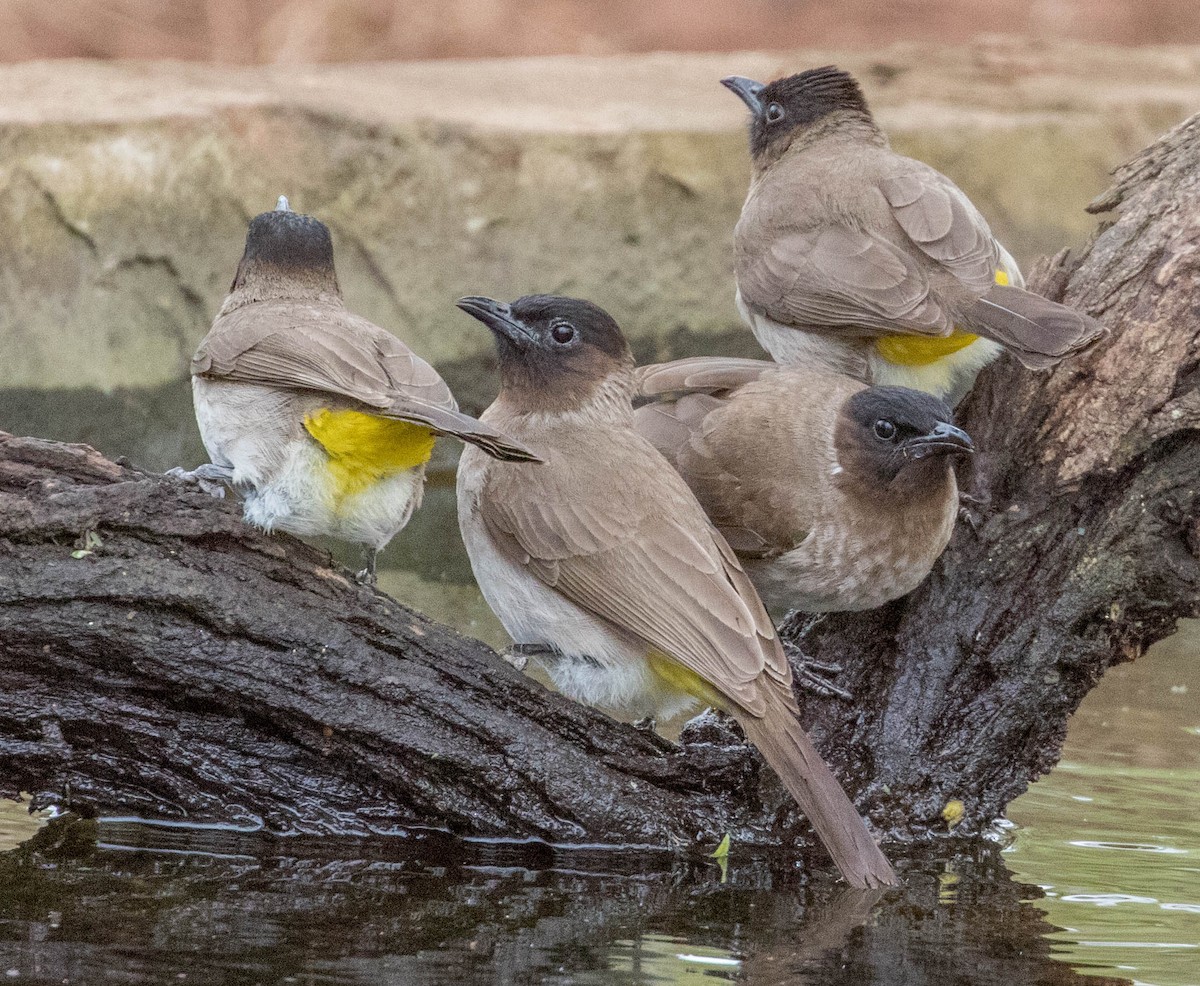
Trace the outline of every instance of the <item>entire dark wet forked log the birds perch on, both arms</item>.
<instances>
[{"instance_id":1,"label":"entire dark wet forked log the birds perch on, both arms","mask_svg":"<svg viewBox=\"0 0 1200 986\"><path fill-rule=\"evenodd\" d=\"M990 494L916 594L804 647L853 703L805 722L894 840L980 831L1114 662L1200 613L1200 122L1034 278L1110 336L1002 359L961 411ZM85 813L688 846L796 836L745 747L682 747L546 692L238 506L90 449L0 438L0 793Z\"/></svg>"}]
</instances>

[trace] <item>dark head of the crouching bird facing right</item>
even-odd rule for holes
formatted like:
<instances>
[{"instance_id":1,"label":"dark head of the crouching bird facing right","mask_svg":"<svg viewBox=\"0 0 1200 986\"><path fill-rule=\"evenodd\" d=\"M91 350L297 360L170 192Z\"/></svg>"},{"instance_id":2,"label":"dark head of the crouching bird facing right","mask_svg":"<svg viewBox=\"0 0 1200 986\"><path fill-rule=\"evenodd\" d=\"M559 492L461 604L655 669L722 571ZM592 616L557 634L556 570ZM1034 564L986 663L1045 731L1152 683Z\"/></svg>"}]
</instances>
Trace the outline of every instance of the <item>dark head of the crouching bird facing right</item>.
<instances>
[{"instance_id":1,"label":"dark head of the crouching bird facing right","mask_svg":"<svg viewBox=\"0 0 1200 986\"><path fill-rule=\"evenodd\" d=\"M907 387L866 387L841 408L834 431L844 482L872 497L918 495L944 482L974 451L944 402Z\"/></svg>"}]
</instances>

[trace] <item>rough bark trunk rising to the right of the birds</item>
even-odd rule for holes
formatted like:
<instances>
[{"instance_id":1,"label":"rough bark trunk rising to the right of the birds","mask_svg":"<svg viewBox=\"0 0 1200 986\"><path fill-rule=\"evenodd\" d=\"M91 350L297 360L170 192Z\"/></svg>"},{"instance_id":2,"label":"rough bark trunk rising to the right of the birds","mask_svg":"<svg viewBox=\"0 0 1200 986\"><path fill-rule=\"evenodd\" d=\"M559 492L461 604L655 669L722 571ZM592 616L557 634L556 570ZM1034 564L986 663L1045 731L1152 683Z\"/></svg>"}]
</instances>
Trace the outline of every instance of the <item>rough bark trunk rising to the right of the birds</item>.
<instances>
[{"instance_id":1,"label":"rough bark trunk rising to the right of the birds","mask_svg":"<svg viewBox=\"0 0 1200 986\"><path fill-rule=\"evenodd\" d=\"M956 831L988 825L1054 766L1105 669L1200 613L1200 118L1116 173L1090 206L1110 210L1032 278L1110 335L1049 374L1003 359L959 409L983 450L978 530L906 600L805 637L866 697L808 713L894 837L955 800Z\"/></svg>"}]
</instances>

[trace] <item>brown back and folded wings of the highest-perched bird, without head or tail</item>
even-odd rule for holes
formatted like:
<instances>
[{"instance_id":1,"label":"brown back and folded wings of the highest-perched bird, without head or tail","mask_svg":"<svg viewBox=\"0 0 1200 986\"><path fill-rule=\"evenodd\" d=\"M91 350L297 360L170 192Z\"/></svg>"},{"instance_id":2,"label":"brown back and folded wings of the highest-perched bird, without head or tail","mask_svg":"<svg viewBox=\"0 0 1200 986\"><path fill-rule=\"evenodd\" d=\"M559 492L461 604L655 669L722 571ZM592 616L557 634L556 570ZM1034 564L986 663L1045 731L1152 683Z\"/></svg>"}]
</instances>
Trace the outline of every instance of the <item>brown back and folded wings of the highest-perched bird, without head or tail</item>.
<instances>
[{"instance_id":1,"label":"brown back and folded wings of the highest-perched bird, without head or tail","mask_svg":"<svg viewBox=\"0 0 1200 986\"><path fill-rule=\"evenodd\" d=\"M1020 272L946 175L886 148L833 148L779 166L737 230L748 305L798 326L946 335L959 312ZM853 182L830 204L822 184Z\"/></svg>"}]
</instances>

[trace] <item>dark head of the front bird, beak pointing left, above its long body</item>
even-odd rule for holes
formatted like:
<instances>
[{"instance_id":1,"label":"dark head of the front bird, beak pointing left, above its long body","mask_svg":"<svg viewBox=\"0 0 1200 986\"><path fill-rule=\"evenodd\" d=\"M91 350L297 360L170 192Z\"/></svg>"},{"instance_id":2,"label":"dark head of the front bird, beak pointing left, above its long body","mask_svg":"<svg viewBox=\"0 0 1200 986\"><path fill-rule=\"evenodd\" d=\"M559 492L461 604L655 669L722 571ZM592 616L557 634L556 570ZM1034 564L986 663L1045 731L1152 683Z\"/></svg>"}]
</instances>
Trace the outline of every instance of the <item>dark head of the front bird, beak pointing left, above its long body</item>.
<instances>
[{"instance_id":1,"label":"dark head of the front bird, beak pointing left, above its long body","mask_svg":"<svg viewBox=\"0 0 1200 986\"><path fill-rule=\"evenodd\" d=\"M568 410L608 381L631 385L629 344L612 315L590 301L535 294L511 305L490 297L457 305L492 330L504 390L522 409Z\"/></svg>"}]
</instances>

